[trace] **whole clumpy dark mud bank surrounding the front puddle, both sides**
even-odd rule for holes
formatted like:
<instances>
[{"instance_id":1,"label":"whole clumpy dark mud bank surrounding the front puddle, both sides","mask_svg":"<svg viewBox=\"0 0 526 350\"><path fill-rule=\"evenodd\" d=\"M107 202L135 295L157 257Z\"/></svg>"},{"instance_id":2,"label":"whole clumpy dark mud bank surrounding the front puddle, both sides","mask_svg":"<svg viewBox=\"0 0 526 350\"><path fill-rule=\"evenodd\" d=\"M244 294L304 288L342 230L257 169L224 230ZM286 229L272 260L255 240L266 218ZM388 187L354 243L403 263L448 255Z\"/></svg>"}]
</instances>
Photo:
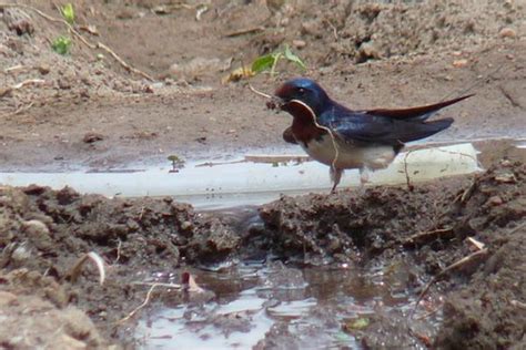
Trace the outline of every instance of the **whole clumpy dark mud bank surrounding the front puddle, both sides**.
<instances>
[{"instance_id":1,"label":"whole clumpy dark mud bank surrounding the front puddle, both sides","mask_svg":"<svg viewBox=\"0 0 526 350\"><path fill-rule=\"evenodd\" d=\"M412 266L403 278L417 295L447 266L481 249L467 240L473 237L487 253L441 275L421 302L444 308L441 331L428 341L444 348L524 346L525 181L526 167L505 161L481 175L413 191L373 187L282 197L260 208L261 219L195 213L170 198L108 199L69 188L2 187L0 301L18 327L0 332L0 343L127 344L134 318L119 321L144 301L148 287L138 282L160 271L179 280L185 267L239 259L382 265L387 271L403 261ZM75 282L69 278L75 260L89 251L107 264L103 286L90 267ZM154 294L151 302L166 301L159 297ZM169 299L184 302L176 294ZM21 306L41 322L29 325ZM43 313L61 319L62 333L47 331ZM390 322L377 318L360 336L362 344L393 343ZM22 343L12 337L20 329L42 336ZM414 343L415 334L406 333L399 344Z\"/></svg>"}]
</instances>

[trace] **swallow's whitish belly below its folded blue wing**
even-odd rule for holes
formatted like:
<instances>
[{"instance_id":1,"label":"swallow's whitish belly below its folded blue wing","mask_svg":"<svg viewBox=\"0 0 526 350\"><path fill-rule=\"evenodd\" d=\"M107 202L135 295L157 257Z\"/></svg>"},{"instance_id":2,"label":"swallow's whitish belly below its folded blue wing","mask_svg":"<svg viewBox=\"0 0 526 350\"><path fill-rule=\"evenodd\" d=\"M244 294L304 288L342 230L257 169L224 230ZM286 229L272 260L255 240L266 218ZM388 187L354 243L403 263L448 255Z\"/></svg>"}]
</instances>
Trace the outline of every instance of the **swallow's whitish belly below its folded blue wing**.
<instances>
[{"instance_id":1,"label":"swallow's whitish belly below its folded blue wing","mask_svg":"<svg viewBox=\"0 0 526 350\"><path fill-rule=\"evenodd\" d=\"M320 141L312 141L308 146L302 144L303 150L314 159L326 165L342 169L362 168L380 169L387 167L396 154L390 145L355 146L337 141L337 153L331 136L326 135Z\"/></svg>"}]
</instances>

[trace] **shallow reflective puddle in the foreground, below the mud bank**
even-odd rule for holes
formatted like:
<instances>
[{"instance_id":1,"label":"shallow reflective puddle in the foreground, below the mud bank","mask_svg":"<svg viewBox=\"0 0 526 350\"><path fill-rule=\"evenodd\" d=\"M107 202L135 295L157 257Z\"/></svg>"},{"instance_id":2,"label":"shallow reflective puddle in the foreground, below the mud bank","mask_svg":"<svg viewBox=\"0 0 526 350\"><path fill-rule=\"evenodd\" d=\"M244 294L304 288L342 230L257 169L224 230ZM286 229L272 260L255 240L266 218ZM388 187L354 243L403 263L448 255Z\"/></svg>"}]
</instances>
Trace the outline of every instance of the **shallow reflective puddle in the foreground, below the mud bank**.
<instances>
[{"instance_id":1,"label":"shallow reflective puddle in the foreground, below the mud bank","mask_svg":"<svg viewBox=\"0 0 526 350\"><path fill-rule=\"evenodd\" d=\"M139 322L143 349L251 349L279 344L293 349L361 348L363 329L397 329L401 346L414 346L411 327L433 336L438 313L409 319L413 274L403 262L390 267L289 267L274 261L225 271L194 271L215 297L163 307ZM358 326L361 325L361 326ZM363 327L363 329L361 328ZM393 334L392 334L393 336ZM374 341L374 340L373 340ZM383 340L380 339L380 342Z\"/></svg>"}]
</instances>

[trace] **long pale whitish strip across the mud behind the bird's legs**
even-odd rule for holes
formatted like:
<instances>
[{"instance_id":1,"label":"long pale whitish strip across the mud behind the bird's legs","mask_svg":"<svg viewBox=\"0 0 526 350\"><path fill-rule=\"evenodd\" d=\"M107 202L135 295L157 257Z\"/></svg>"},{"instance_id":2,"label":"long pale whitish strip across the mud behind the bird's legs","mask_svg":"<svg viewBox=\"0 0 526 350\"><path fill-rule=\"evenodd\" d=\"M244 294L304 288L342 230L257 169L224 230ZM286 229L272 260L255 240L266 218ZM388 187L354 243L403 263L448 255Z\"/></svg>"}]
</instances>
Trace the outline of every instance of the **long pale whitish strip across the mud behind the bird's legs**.
<instances>
[{"instance_id":1,"label":"long pale whitish strip across the mud behind the bird's legs","mask_svg":"<svg viewBox=\"0 0 526 350\"><path fill-rule=\"evenodd\" d=\"M523 143L509 147L524 151ZM370 184L403 184L437 177L469 174L481 171L478 146L495 154L484 143L455 145L421 145L399 154L383 171L371 173ZM292 161L285 161L292 159ZM328 167L306 162L304 156L249 155L226 163L195 162L176 172L170 166L145 169L110 169L75 173L0 173L0 183L13 186L39 184L52 188L73 187L81 194L97 193L113 196L173 196L198 208L226 208L260 205L279 198L281 194L307 192L327 193L331 183ZM341 187L360 185L357 171L344 175Z\"/></svg>"}]
</instances>

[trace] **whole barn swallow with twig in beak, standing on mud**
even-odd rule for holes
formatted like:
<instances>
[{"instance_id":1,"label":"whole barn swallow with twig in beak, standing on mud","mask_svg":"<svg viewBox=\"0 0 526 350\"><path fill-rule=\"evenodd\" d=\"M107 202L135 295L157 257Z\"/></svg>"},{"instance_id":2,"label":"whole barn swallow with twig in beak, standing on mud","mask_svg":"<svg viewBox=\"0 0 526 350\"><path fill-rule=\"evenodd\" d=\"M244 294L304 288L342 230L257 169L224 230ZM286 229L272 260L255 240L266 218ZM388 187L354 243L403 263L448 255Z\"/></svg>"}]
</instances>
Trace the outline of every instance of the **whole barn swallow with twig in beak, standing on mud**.
<instances>
[{"instance_id":1,"label":"whole barn swallow with twig in beak, standing on mud","mask_svg":"<svg viewBox=\"0 0 526 350\"><path fill-rule=\"evenodd\" d=\"M411 109L353 111L333 101L316 82L300 78L281 85L267 106L292 114L292 126L283 138L300 144L312 158L331 167L333 193L344 169L360 169L363 183L366 171L387 167L404 143L449 127L451 117L427 119L471 96Z\"/></svg>"}]
</instances>

